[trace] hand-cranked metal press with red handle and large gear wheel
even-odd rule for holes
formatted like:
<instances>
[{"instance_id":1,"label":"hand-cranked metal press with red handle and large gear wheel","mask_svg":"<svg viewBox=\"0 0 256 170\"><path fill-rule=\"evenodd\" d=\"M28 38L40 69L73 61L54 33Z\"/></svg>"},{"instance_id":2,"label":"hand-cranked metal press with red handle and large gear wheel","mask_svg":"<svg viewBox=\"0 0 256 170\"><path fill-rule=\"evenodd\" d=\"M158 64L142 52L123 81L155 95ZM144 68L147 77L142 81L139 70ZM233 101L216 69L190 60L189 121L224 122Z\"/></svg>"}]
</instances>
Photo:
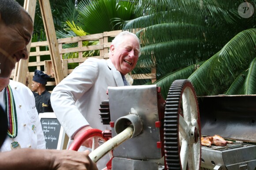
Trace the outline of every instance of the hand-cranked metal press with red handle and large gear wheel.
<instances>
[{"instance_id":1,"label":"hand-cranked metal press with red handle and large gear wheel","mask_svg":"<svg viewBox=\"0 0 256 170\"><path fill-rule=\"evenodd\" d=\"M200 114L192 83L174 81L166 101L156 85L108 87L108 96L100 115L103 124L110 124L110 135L91 130L69 149L77 150L88 137L98 136L105 143L89 156L97 162L111 151L108 169L200 169Z\"/></svg>"}]
</instances>

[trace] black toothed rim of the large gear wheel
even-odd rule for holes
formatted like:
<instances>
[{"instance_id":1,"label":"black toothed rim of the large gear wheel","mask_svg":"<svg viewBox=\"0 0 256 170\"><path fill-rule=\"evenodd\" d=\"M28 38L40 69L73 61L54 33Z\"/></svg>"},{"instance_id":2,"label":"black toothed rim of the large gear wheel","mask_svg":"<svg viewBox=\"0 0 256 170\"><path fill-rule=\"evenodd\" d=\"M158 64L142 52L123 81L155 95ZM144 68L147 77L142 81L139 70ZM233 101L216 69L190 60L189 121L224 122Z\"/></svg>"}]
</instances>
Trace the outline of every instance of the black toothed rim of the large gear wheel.
<instances>
[{"instance_id":1,"label":"black toothed rim of the large gear wheel","mask_svg":"<svg viewBox=\"0 0 256 170\"><path fill-rule=\"evenodd\" d=\"M164 120L164 145L168 170L181 170L180 144L179 144L179 109L184 87L188 80L175 80L166 98Z\"/></svg>"}]
</instances>

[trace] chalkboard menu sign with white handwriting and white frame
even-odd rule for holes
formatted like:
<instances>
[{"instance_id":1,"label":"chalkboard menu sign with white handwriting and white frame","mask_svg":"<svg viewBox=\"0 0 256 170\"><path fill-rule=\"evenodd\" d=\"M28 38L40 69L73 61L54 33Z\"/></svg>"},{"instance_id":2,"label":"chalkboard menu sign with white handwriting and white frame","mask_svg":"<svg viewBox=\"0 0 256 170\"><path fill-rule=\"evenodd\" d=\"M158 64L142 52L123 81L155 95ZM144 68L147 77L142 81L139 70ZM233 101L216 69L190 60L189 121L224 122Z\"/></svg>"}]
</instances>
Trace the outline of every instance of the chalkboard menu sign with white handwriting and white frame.
<instances>
[{"instance_id":1,"label":"chalkboard menu sign with white handwriting and white frame","mask_svg":"<svg viewBox=\"0 0 256 170\"><path fill-rule=\"evenodd\" d=\"M55 113L39 113L45 136L46 149L62 149L65 133Z\"/></svg>"}]
</instances>

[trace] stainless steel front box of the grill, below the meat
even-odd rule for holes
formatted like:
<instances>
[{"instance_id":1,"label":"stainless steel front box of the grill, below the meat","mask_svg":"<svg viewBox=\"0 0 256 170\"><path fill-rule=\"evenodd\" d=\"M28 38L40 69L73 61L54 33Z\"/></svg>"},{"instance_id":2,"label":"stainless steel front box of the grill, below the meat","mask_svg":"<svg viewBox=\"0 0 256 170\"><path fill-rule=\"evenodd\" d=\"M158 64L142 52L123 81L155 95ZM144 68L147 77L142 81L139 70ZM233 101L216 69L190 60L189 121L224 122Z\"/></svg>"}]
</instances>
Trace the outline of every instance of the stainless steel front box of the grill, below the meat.
<instances>
[{"instance_id":1,"label":"stainless steel front box of the grill, below the meat","mask_svg":"<svg viewBox=\"0 0 256 170\"><path fill-rule=\"evenodd\" d=\"M201 167L203 170L254 170L256 145L234 143L227 146L202 146Z\"/></svg>"}]
</instances>

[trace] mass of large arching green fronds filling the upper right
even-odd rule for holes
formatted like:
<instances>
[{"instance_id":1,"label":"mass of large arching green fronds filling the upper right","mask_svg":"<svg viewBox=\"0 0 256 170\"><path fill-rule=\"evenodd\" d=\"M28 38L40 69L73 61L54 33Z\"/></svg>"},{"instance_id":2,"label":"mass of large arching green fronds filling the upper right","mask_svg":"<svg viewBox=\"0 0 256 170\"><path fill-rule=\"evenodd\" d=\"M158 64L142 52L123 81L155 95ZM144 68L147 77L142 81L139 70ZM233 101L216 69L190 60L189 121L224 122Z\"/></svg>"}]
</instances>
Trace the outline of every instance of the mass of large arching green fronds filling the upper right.
<instances>
[{"instance_id":1,"label":"mass of large arching green fronds filling the upper right","mask_svg":"<svg viewBox=\"0 0 256 170\"><path fill-rule=\"evenodd\" d=\"M198 95L256 93L249 66L256 56L256 14L241 18L237 7L243 2L142 0L136 11L145 15L123 22L123 29L143 28L137 32L142 55L135 72L156 65L155 83L163 93L175 79L184 78ZM188 69L197 63L196 71Z\"/></svg>"}]
</instances>

